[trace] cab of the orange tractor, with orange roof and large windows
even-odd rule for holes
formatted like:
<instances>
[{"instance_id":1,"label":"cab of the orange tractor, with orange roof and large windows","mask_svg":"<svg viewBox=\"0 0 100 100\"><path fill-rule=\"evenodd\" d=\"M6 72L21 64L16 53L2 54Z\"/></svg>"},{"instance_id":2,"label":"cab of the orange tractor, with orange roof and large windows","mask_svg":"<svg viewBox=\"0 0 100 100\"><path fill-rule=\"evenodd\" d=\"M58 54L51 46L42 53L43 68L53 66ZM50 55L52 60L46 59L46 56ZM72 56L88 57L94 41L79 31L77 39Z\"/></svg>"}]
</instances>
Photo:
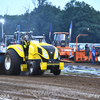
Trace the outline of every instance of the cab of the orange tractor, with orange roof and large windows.
<instances>
[{"instance_id":1,"label":"cab of the orange tractor, with orange roof and large windows","mask_svg":"<svg viewBox=\"0 0 100 100\"><path fill-rule=\"evenodd\" d=\"M69 39L68 39L69 33L68 32L55 32L54 33L54 43L55 46L69 46Z\"/></svg>"}]
</instances>

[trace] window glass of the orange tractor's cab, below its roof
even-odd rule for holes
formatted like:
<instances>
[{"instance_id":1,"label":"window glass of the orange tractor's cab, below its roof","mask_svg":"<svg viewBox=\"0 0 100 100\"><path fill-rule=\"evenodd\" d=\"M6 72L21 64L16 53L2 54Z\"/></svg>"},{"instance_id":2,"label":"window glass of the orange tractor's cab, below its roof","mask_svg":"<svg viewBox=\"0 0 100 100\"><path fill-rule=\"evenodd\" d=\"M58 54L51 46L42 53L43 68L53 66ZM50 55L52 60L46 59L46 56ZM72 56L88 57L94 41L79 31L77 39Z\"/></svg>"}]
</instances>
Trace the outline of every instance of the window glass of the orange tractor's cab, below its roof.
<instances>
[{"instance_id":1,"label":"window glass of the orange tractor's cab, below its roof","mask_svg":"<svg viewBox=\"0 0 100 100\"><path fill-rule=\"evenodd\" d=\"M69 39L67 34L55 34L54 41L55 41L55 46L69 45Z\"/></svg>"}]
</instances>

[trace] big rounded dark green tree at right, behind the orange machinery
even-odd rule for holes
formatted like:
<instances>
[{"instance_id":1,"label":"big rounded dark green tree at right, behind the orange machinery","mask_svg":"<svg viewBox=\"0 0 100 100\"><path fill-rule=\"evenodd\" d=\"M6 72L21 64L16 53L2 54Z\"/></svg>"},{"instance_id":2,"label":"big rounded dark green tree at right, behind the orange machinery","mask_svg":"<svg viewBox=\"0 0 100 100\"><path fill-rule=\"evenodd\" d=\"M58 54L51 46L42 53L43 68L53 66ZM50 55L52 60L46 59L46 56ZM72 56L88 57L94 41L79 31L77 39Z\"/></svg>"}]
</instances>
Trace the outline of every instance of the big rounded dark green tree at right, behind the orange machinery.
<instances>
[{"instance_id":1,"label":"big rounded dark green tree at right, behind the orange machinery","mask_svg":"<svg viewBox=\"0 0 100 100\"><path fill-rule=\"evenodd\" d=\"M97 17L100 16L100 12L95 11L92 7L90 7L90 5L86 4L85 2L71 0L71 2L65 5L64 13L65 14L63 15L63 22L65 22L65 24L66 22L73 22L73 42L75 42L76 36L78 34L84 33L88 33L89 36L85 37L85 39L82 38L80 42L100 42L100 35L98 35L100 29L98 22L100 22L100 19ZM90 28L89 32L87 32L88 27ZM97 37L97 41L94 41L94 36Z\"/></svg>"}]
</instances>

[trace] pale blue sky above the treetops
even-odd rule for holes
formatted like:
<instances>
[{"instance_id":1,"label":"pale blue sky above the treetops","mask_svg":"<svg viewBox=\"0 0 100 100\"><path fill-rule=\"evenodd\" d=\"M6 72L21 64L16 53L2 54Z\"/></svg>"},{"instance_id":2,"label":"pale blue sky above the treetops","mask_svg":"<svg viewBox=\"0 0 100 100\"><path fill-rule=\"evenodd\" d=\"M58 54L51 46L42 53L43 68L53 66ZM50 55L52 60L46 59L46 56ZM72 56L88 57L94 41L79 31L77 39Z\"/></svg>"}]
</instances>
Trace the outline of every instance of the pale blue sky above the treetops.
<instances>
[{"instance_id":1,"label":"pale blue sky above the treetops","mask_svg":"<svg viewBox=\"0 0 100 100\"><path fill-rule=\"evenodd\" d=\"M36 0L35 0L36 1ZM52 5L61 9L64 9L66 3L70 2L70 0L47 0L51 2ZM84 1L85 3L92 6L95 10L100 11L100 0L77 0ZM27 9L30 12L34 9L34 4L32 0L0 0L0 15L21 15L24 14Z\"/></svg>"}]
</instances>

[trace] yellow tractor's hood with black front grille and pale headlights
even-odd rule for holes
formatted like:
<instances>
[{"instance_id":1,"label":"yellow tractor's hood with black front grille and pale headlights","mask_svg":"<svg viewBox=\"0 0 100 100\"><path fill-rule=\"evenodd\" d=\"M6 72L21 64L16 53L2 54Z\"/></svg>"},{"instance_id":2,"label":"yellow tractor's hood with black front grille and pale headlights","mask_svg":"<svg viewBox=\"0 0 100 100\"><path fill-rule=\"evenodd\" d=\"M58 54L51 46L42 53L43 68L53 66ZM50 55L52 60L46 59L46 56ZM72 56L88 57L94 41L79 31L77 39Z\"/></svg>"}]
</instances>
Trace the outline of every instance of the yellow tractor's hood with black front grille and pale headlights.
<instances>
[{"instance_id":1,"label":"yellow tractor's hood with black front grille and pale headlights","mask_svg":"<svg viewBox=\"0 0 100 100\"><path fill-rule=\"evenodd\" d=\"M39 43L38 41L31 41L38 49L38 53L45 59L57 59L58 50L55 46L48 43Z\"/></svg>"}]
</instances>

